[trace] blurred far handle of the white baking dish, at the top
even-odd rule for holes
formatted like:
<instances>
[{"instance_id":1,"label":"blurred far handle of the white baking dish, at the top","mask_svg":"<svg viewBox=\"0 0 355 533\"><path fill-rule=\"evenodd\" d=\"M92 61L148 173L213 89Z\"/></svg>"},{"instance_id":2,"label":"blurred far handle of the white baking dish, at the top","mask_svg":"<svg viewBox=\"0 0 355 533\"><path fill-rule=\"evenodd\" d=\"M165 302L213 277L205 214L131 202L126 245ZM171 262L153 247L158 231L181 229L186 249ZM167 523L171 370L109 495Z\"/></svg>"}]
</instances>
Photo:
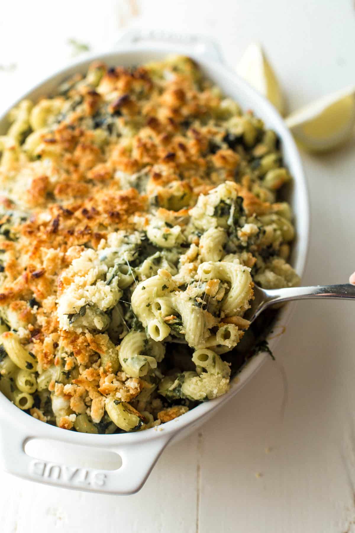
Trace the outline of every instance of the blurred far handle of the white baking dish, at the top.
<instances>
[{"instance_id":1,"label":"blurred far handle of the white baking dish, at the top","mask_svg":"<svg viewBox=\"0 0 355 533\"><path fill-rule=\"evenodd\" d=\"M131 28L127 30L115 44L135 44L141 41L154 41L159 43L178 44L188 47L189 50L194 51L197 55L212 59L214 61L222 61L222 56L218 45L207 36L192 35L178 33L175 31L164 30L145 30L139 28Z\"/></svg>"}]
</instances>

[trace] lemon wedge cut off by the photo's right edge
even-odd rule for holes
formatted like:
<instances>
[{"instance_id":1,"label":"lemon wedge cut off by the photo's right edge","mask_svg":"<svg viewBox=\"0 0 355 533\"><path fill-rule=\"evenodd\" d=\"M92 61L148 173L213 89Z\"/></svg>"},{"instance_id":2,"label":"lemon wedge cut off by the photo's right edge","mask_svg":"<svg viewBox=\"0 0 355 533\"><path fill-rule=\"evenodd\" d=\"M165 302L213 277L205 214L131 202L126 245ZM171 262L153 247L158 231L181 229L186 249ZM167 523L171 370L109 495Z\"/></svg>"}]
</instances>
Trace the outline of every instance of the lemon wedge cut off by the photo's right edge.
<instances>
[{"instance_id":1,"label":"lemon wedge cut off by the photo's right edge","mask_svg":"<svg viewBox=\"0 0 355 533\"><path fill-rule=\"evenodd\" d=\"M285 120L295 138L312 151L335 148L350 137L355 124L355 86L323 96Z\"/></svg>"}]
</instances>

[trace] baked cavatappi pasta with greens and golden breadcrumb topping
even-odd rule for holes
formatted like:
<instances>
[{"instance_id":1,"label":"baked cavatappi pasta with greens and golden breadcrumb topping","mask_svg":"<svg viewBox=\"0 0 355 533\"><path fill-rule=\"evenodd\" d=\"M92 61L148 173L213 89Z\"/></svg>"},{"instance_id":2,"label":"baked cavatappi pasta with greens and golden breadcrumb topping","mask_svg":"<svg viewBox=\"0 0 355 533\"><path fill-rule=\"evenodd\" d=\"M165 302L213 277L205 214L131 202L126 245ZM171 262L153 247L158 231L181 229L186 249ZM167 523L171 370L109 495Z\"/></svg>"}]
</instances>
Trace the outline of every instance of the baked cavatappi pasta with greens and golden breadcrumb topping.
<instances>
[{"instance_id":1,"label":"baked cavatappi pasta with greens and golden breadcrumb topping","mask_svg":"<svg viewBox=\"0 0 355 533\"><path fill-rule=\"evenodd\" d=\"M191 59L93 63L20 102L0 154L5 396L95 434L225 393L254 282L299 281L275 133Z\"/></svg>"}]
</instances>

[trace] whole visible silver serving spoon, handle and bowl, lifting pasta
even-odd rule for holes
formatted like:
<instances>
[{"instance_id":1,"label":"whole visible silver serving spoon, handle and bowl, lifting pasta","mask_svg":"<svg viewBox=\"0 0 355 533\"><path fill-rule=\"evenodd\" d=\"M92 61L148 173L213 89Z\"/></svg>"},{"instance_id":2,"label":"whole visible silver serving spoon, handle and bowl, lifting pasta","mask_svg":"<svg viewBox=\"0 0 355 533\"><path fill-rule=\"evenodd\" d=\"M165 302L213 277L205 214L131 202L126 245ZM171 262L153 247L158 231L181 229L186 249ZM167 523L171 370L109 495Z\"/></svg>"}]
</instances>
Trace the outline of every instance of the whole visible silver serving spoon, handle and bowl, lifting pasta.
<instances>
[{"instance_id":1,"label":"whole visible silver serving spoon, handle and bowl, lifting pasta","mask_svg":"<svg viewBox=\"0 0 355 533\"><path fill-rule=\"evenodd\" d=\"M262 289L254 286L254 300L251 308L246 311L243 318L253 322L262 311L270 305L288 302L290 300L313 300L313 298L335 298L342 300L349 298L355 300L355 285L315 285L313 287L287 287L285 289Z\"/></svg>"}]
</instances>

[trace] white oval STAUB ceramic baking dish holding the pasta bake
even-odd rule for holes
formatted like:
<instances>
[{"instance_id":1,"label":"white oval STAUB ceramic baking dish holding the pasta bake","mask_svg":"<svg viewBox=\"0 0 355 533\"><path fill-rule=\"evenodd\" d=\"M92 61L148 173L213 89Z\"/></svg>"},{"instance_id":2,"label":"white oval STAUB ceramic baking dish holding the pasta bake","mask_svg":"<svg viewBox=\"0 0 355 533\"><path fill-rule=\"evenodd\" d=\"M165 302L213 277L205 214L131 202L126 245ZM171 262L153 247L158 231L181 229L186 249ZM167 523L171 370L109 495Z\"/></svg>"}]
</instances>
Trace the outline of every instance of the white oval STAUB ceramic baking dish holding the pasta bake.
<instances>
[{"instance_id":1,"label":"white oval STAUB ceramic baking dish holding the pasta bake","mask_svg":"<svg viewBox=\"0 0 355 533\"><path fill-rule=\"evenodd\" d=\"M149 41L150 44L142 46L143 40ZM151 43L151 41L154 42ZM89 63L96 59L103 60L110 65L131 66L158 60L173 52L194 58L205 74L227 95L235 98L244 109L254 110L255 114L264 120L267 127L273 128L279 135L285 163L294 179L291 197L288 198L295 213L297 235L291 262L296 271L302 275L308 248L309 206L307 185L298 150L275 108L222 64L216 45L208 38L131 30L115 44L113 51L95 54L87 57L85 61L72 63L23 94L21 99L36 100L42 95L54 93L61 80L77 71L84 73ZM6 131L8 111L6 110L0 117L0 133ZM290 305L285 306L279 312L274 331L286 325L290 312ZM275 348L277 341L278 338L275 335L270 338L271 349ZM241 390L267 357L266 353L259 353L251 359L233 380L230 391L222 397L201 403L180 418L159 428L137 433L92 435L64 431L23 413L0 393L0 461L2 467L19 477L60 487L104 494L133 494L143 486L164 448L172 442L183 439L216 414L230 398ZM118 470L100 470L34 459L24 451L26 442L31 439L46 439L47 442L52 441L53 444L61 442L74 446L100 448L102 451L114 451L121 457L122 466ZM81 454L82 448L80 448L80 457ZM69 464L77 464L75 455ZM78 464L82 464L82 460Z\"/></svg>"}]
</instances>

